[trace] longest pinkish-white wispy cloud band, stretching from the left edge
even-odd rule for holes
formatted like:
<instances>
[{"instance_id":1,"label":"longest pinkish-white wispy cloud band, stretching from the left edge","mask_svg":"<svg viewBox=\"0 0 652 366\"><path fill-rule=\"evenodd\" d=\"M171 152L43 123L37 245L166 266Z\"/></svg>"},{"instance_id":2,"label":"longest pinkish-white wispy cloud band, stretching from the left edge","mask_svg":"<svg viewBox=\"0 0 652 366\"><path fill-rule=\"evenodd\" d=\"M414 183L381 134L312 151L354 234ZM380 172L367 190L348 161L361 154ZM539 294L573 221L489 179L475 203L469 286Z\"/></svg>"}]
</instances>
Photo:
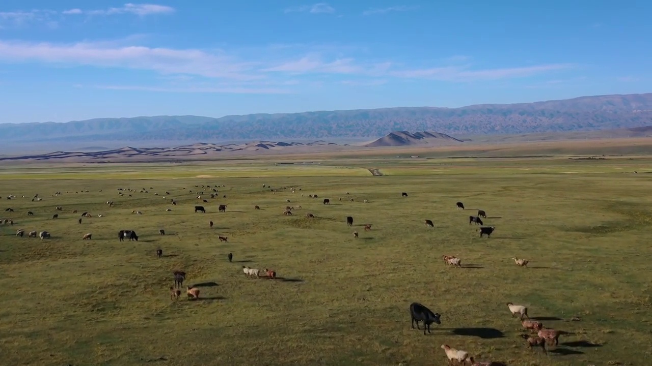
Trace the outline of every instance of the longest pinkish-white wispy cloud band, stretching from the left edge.
<instances>
[{"instance_id":1,"label":"longest pinkish-white wispy cloud band, stretching from the left edge","mask_svg":"<svg viewBox=\"0 0 652 366\"><path fill-rule=\"evenodd\" d=\"M141 37L104 42L72 44L18 42L0 40L0 63L42 63L53 66L95 66L151 72L164 78L166 85L105 85L103 89L231 92L238 94L278 94L292 92L291 87L314 85L328 76L325 83L372 86L389 79L418 79L449 82L495 81L537 76L574 67L573 64L539 64L514 68L473 68L462 64L467 57L444 60L457 64L439 64L430 68L410 68L391 60L373 62L342 52L287 48L281 57L278 48L261 47L248 58L236 57L238 50L174 49L136 46ZM328 49L328 48L325 48ZM293 56L294 55L294 56ZM441 62L441 61L440 61ZM340 77L340 79L338 79ZM342 80L342 78L346 78ZM210 82L209 82L210 81ZM220 85L216 86L216 82Z\"/></svg>"}]
</instances>

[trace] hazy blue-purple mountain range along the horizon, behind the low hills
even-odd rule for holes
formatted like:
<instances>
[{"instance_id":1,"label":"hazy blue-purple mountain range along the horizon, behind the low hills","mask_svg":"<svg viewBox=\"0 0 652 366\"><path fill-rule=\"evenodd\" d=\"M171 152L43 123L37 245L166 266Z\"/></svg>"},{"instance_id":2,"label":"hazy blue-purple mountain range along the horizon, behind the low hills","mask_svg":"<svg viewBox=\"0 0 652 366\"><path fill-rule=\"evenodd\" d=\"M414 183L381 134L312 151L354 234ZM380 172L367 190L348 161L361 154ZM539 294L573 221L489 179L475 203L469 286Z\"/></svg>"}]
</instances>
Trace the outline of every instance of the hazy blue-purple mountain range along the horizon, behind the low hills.
<instances>
[{"instance_id":1,"label":"hazy blue-purple mountain range along the horizon, behind the low hills","mask_svg":"<svg viewBox=\"0 0 652 366\"><path fill-rule=\"evenodd\" d=\"M652 93L460 108L397 107L221 118L158 116L0 124L0 143L375 138L388 131L404 130L438 131L460 136L608 130L649 125L652 125Z\"/></svg>"}]
</instances>

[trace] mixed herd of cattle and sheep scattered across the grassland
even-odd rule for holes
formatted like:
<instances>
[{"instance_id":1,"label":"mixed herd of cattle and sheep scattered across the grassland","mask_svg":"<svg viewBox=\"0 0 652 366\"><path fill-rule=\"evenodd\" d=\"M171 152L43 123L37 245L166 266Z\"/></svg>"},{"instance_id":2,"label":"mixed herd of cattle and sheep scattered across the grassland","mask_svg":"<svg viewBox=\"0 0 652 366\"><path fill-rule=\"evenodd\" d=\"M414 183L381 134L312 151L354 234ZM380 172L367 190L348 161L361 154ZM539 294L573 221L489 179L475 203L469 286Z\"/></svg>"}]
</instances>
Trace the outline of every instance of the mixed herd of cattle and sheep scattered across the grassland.
<instances>
[{"instance_id":1,"label":"mixed herd of cattle and sheep scattered across the grassland","mask_svg":"<svg viewBox=\"0 0 652 366\"><path fill-rule=\"evenodd\" d=\"M195 186L195 187L199 188L199 189L201 189L201 188L211 188L211 186L206 186L205 187L203 185L202 186ZM220 187L220 186L215 186L215 187ZM265 187L265 185L263 185L263 188L264 187ZM152 189L152 188L150 188L150 189ZM285 189L287 189L287 188L285 188ZM290 189L292 190L293 193L294 193L295 190L297 190L296 188L295 189L290 188ZM128 190L128 189L118 188L119 195L123 196L124 194L122 192L125 191L125 190ZM270 190L272 191L272 193L276 193L278 191L278 190L271 189L271 188L270 188ZM299 190L301 190L301 189L299 189ZM128 190L128 191L131 191L131 190ZM215 188L213 188L213 191L217 192L217 190ZM148 191L143 188L143 190L141 190L141 192L148 192ZM57 193L61 194L60 192L57 192ZM170 193L168 191L166 191L165 193L166 193L166 195L170 195ZM192 190L190 190L189 193L192 193ZM204 193L203 193L203 191L196 191L195 193L192 193L192 194L198 194L197 198L201 199L201 195L203 195ZM349 193L347 192L346 194L349 194ZM302 193L302 195L303 195L303 193ZM215 196L216 195L211 193L211 197L215 197ZM408 197L408 193L402 192L401 196L402 197ZM35 197L37 197L37 196L35 196ZM309 197L316 198L316 197L318 197L318 195L309 195ZM203 202L206 203L207 200L204 199ZM289 202L289 199L286 200L286 202ZM367 203L368 201L365 200L364 202ZM171 200L170 203L175 204L175 201ZM109 206L113 206L113 201L108 201L107 204ZM323 204L329 205L330 200L329 199L323 199ZM227 207L226 204L220 204L218 206L218 212L226 212L226 207ZM462 202L457 202L456 207L458 209L465 210L464 204ZM300 209L300 208L301 208L301 206L295 206L295 207L286 206L286 209L284 210L284 214L290 216L292 214L291 213L292 210ZM254 209L255 210L260 210L260 207L258 205L256 205L256 206L254 206ZM61 206L57 206L57 207L55 207L55 210L61 212L61 211L63 211L63 208ZM12 208L6 208L5 212L14 212L14 210ZM76 210L74 212L76 212ZM204 206L194 206L194 212L195 213L201 212L201 213L205 214L206 210L205 210ZM132 212L132 213L141 214L140 211L136 211L136 210L134 210L134 212ZM33 216L34 212L33 211L28 211L27 215L28 216ZM308 219L314 219L315 218L315 216L313 214L310 214L310 213L306 214L305 216ZM56 219L58 217L59 217L59 214L54 214L52 218ZM82 214L82 217L89 217L90 218L92 216L91 216L91 214L89 214L89 212L84 212ZM98 215L98 217L101 217L101 215ZM476 225L484 225L484 223L482 223L481 218L485 218L485 219L487 218L486 212L484 212L484 210L478 210L476 216L468 216L468 217L469 217L469 225L471 225L471 223L475 223ZM0 222L5 223L5 224L10 223L11 225L13 225L13 223L14 223L13 219L1 219ZM81 218L78 219L78 222L82 223L82 219ZM430 220L430 219L424 219L423 222L424 222L425 227L431 227L431 228L435 227L433 221ZM352 216L347 216L346 217L346 224L347 224L348 227L353 226L353 217ZM210 221L209 226L211 228L213 227L213 221ZM372 230L371 229L371 227L372 227L371 224L363 224L363 225L359 225L359 226L363 226L364 231L371 231ZM494 232L495 229L496 229L496 227L494 227L494 226L486 226L486 227L481 226L481 227L479 227L477 229L477 231L480 232L480 237L481 238L483 238L484 236L486 236L487 238L490 238L492 232ZM164 235L165 231L164 231L164 229L159 229L158 233L160 235ZM16 236L23 237L24 234L25 234L24 229L20 229L20 230L18 230L16 232ZM37 231L31 231L31 232L29 232L27 234L28 238L35 238L36 236L37 236ZM48 231L41 231L38 236L41 239L51 238L50 232L48 232ZM354 231L353 236L354 236L354 238L359 238L359 233L357 231ZM91 237L92 237L92 234L89 232L89 233L83 235L82 239L83 240L91 240ZM119 238L119 240L121 242L125 241L125 239L127 239L130 242L131 241L138 242L138 235L136 234L136 231L134 231L134 230L121 230L121 231L118 232L118 238ZM218 239L220 240L220 242L227 242L228 243L228 237L227 236L219 236L218 235ZM157 249L156 250L156 256L158 258L162 258L163 257L163 250L162 249ZM228 257L229 262L233 261L233 253L228 253L227 257ZM458 268L462 267L462 259L460 259L458 257L452 256L452 255L442 255L442 259L443 259L443 262L445 264L447 264L447 266L458 267ZM518 266L523 267L523 268L526 268L527 264L529 262L526 259L518 259L517 257L513 257L512 259L514 260L514 262ZM267 279L278 279L279 278L276 275L276 271L274 271L272 269L269 269L269 268L265 268L264 270L259 270L258 268L250 268L249 266L242 266L242 270L243 270L243 273L244 273L244 275L246 277L252 278L252 279L258 279L258 278L261 278L261 277L267 278ZM170 298L171 298L171 300L179 300L179 298L181 296L181 288L183 287L183 283L184 283L184 281L186 279L186 272L184 272L183 270L175 270L173 272L173 274L172 274L172 277L173 277L173 286L170 287ZM198 289L196 287L192 287L192 286L186 287L186 294L187 294L188 300L200 300L200 289ZM513 303L508 302L507 306L509 307L509 311L511 312L512 317L518 316L519 320L522 322L522 327L525 330L531 330L531 331L536 331L537 332L536 334L523 334L522 335L522 337L526 340L526 347L527 348L533 348L533 347L536 346L536 347L541 348L542 351L547 354L546 345L552 345L553 343L555 345L557 345L559 343L559 335L562 335L562 334L565 333L563 331L544 328L543 325L541 324L541 322L537 322L537 321L534 321L534 320L529 320L529 316L527 315L527 307L525 307L523 305L514 305ZM423 328L423 333L424 333L424 335L426 335L426 331L428 333L431 333L430 326L432 324L441 324L442 315L439 314L439 313L434 313L433 311L428 309L428 307L426 307L425 305L422 305L421 303L417 303L417 302L411 303L409 305L409 313L411 315L412 328L414 328L414 324L416 322L417 329L421 330L421 328L419 328L419 322L423 322L423 327L424 327ZM527 318L527 320L525 320L524 318ZM445 354L446 354L446 356L447 356L447 358L449 360L449 363L453 363L453 362L467 363L467 362L469 362L472 365L476 365L476 366L482 366L482 365L485 365L485 366L487 366L487 365L499 366L499 365L504 365L504 363L501 363L501 362L498 362L498 361L476 362L473 359L473 357L471 357L469 355L469 352L464 351L464 350L458 350L456 348L452 348L449 345L443 344L443 345L441 345L441 348L445 351Z\"/></svg>"}]
</instances>

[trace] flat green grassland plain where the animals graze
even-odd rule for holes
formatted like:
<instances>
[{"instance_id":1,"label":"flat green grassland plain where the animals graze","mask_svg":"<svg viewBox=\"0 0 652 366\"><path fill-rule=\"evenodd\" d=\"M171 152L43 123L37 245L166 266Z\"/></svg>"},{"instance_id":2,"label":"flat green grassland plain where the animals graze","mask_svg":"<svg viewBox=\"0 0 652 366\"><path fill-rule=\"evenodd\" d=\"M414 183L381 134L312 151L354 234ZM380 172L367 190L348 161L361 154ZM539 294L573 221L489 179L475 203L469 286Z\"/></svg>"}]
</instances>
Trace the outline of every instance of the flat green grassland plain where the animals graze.
<instances>
[{"instance_id":1,"label":"flat green grassland plain where the animals graze","mask_svg":"<svg viewBox=\"0 0 652 366\"><path fill-rule=\"evenodd\" d=\"M631 172L650 171L650 162L563 156L0 167L0 218L16 222L0 225L2 363L444 365L439 346L446 343L508 365L642 365L652 352L652 175ZM204 189L209 203L201 203L201 184L224 187L216 199ZM117 188L136 192L119 197ZM56 191L63 194L53 197ZM36 193L42 201L31 201ZM207 213L195 214L195 204ZM284 216L287 205L302 208ZM485 225L496 227L491 238L468 225L479 208ZM93 218L80 225L84 211ZM363 231L365 223L372 231ZM20 238L17 229L52 238ZM121 229L135 230L139 241L119 242ZM87 232L92 240L82 240ZM445 266L443 254L460 257L463 268ZM514 256L529 259L529 268L516 266ZM243 265L273 268L286 280L247 279ZM170 300L177 269L204 300ZM410 327L415 301L442 314L431 335ZM526 350L507 302L569 334L547 356Z\"/></svg>"}]
</instances>

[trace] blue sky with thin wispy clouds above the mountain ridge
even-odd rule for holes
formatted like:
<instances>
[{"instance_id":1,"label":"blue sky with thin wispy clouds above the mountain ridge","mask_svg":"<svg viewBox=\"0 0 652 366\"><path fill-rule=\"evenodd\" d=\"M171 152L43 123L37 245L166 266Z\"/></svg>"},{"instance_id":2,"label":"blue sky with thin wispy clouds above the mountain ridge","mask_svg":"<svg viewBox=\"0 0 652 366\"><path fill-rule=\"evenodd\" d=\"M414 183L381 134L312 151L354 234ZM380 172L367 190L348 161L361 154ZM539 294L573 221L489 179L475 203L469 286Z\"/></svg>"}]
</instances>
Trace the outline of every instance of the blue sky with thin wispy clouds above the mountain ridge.
<instances>
[{"instance_id":1,"label":"blue sky with thin wispy clouds above the mountain ridge","mask_svg":"<svg viewBox=\"0 0 652 366\"><path fill-rule=\"evenodd\" d=\"M650 92L649 1L0 2L0 122Z\"/></svg>"}]
</instances>

